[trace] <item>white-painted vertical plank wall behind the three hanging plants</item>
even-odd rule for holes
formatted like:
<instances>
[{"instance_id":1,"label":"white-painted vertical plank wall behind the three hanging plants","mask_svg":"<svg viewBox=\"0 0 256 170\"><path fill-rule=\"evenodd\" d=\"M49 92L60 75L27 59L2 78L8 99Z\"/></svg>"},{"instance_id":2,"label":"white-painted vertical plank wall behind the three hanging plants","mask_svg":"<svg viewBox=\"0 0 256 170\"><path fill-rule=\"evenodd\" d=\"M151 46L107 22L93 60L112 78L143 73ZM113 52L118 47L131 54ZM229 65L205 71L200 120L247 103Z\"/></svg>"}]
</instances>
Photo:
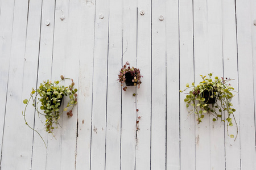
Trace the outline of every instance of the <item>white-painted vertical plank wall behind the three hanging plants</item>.
<instances>
[{"instance_id":1,"label":"white-painted vertical plank wall behind the three hanging plants","mask_svg":"<svg viewBox=\"0 0 256 170\"><path fill-rule=\"evenodd\" d=\"M0 169L255 170L255 8L255 0L0 0ZM126 61L144 78L123 92L116 80ZM179 93L212 72L239 91L235 142L224 124L187 117ZM22 101L61 74L74 79L79 103L56 140L27 109L46 149L24 124Z\"/></svg>"}]
</instances>

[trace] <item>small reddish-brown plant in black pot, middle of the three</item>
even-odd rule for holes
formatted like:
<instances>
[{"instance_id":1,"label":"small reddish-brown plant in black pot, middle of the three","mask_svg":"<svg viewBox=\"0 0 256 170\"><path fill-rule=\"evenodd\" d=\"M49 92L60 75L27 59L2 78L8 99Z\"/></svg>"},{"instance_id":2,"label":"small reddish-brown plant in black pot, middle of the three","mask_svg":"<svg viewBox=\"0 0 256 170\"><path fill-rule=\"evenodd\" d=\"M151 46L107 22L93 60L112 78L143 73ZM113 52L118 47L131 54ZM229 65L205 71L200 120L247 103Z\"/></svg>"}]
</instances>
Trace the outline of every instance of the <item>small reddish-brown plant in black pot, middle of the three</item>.
<instances>
[{"instance_id":1,"label":"small reddish-brown plant in black pot, middle of the three","mask_svg":"<svg viewBox=\"0 0 256 170\"><path fill-rule=\"evenodd\" d=\"M123 87L123 91L126 91L127 86L141 86L141 71L137 68L130 67L130 63L127 61L119 71L118 80ZM125 86L126 84L126 86Z\"/></svg>"}]
</instances>

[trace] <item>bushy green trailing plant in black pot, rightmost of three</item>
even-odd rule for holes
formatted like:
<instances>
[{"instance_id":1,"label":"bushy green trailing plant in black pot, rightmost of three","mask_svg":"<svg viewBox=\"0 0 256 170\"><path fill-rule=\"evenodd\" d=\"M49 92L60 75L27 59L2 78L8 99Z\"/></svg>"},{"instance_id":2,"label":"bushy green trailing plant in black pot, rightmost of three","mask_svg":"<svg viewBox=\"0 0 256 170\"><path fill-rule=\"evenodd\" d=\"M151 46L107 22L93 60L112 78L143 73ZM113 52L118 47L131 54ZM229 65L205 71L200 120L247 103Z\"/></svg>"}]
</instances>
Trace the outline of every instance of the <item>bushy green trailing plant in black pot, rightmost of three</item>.
<instances>
[{"instance_id":1,"label":"bushy green trailing plant in black pot, rightmost of three","mask_svg":"<svg viewBox=\"0 0 256 170\"><path fill-rule=\"evenodd\" d=\"M195 113L198 124L202 122L206 113L213 115L213 121L218 120L218 118L220 118L221 121L227 121L227 131L229 126L233 126L233 117L237 126L236 118L234 117L234 112L236 109L233 108L233 104L231 103L232 98L234 97L232 92L235 91L231 84L229 84L229 82L233 79L218 78L218 76L212 79L212 73L208 74L208 78L203 75L200 76L203 81L197 86L195 86L195 83L192 83L192 86L186 84L187 88L185 88L183 91L180 90L180 92L184 92L191 89L189 92L185 93L187 96L184 99L188 109L188 115ZM189 109L189 105L191 105L192 109ZM224 120L225 112L227 113L226 120ZM229 137L234 138L234 135L230 134ZM235 141L236 138L234 139Z\"/></svg>"}]
</instances>

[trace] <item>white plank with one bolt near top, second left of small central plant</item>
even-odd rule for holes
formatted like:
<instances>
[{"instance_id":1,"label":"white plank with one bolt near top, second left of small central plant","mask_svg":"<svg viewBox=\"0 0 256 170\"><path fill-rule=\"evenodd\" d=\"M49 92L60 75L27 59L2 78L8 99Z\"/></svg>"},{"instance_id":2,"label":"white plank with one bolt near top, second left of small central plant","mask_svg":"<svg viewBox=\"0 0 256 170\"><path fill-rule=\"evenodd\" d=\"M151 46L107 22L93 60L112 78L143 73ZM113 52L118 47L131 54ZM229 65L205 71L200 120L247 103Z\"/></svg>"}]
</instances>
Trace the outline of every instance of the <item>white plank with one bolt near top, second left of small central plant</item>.
<instances>
[{"instance_id":1,"label":"white plank with one bolt near top, second left of small central plant","mask_svg":"<svg viewBox=\"0 0 256 170\"><path fill-rule=\"evenodd\" d=\"M108 30L109 1L97 1L93 60L92 144L90 169L105 168ZM100 104L101 107L99 107L98 104Z\"/></svg>"}]
</instances>

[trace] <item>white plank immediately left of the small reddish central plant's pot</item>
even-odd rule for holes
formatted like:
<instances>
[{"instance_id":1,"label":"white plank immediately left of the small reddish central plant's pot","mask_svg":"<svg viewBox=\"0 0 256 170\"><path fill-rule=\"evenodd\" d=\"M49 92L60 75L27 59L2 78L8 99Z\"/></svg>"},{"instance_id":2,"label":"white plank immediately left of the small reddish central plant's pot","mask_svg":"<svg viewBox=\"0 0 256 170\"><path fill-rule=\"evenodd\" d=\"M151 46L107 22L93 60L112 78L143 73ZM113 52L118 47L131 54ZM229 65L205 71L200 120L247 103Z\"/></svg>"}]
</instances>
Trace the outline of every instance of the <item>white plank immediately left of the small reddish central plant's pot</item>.
<instances>
[{"instance_id":1,"label":"white plank immediately left of the small reddish central plant's pot","mask_svg":"<svg viewBox=\"0 0 256 170\"><path fill-rule=\"evenodd\" d=\"M122 66L122 14L123 2L110 1L105 169L120 169L122 88L117 75Z\"/></svg>"}]
</instances>

